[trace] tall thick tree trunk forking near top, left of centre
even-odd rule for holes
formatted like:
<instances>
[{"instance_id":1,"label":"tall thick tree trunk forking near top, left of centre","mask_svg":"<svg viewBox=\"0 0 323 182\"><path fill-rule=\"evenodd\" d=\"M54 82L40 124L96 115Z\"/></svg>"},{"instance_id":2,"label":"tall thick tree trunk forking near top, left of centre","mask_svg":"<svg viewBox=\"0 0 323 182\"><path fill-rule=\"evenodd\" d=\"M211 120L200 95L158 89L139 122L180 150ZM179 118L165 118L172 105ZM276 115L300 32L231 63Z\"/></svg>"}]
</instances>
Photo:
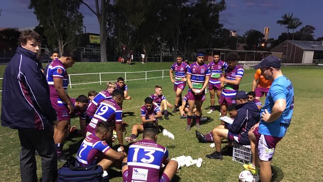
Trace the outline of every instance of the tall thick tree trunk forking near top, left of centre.
<instances>
[{"instance_id":1,"label":"tall thick tree trunk forking near top, left of centre","mask_svg":"<svg viewBox=\"0 0 323 182\"><path fill-rule=\"evenodd\" d=\"M99 5L99 0L95 0L95 11L81 0L81 2L88 7L88 9L95 14L100 28L100 60L101 62L107 61L106 57L106 40L107 40L107 15L108 8L110 6L110 0L101 0L101 5Z\"/></svg>"}]
</instances>

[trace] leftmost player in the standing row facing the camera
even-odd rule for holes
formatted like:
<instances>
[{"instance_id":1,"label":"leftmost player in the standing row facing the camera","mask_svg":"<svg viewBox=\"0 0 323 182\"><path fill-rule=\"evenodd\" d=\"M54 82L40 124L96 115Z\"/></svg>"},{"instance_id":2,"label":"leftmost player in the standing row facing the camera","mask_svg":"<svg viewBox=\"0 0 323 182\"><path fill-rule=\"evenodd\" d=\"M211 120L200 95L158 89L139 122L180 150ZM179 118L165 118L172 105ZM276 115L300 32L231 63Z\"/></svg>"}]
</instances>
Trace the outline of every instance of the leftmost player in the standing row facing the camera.
<instances>
[{"instance_id":1,"label":"leftmost player in the standing row facing the camera","mask_svg":"<svg viewBox=\"0 0 323 182\"><path fill-rule=\"evenodd\" d=\"M173 113L177 112L179 107L180 97L182 97L182 91L186 85L186 72L188 65L183 62L182 55L176 56L176 63L172 64L169 70L170 81L174 84L175 91L175 106ZM175 80L173 79L173 72L175 71Z\"/></svg>"}]
</instances>

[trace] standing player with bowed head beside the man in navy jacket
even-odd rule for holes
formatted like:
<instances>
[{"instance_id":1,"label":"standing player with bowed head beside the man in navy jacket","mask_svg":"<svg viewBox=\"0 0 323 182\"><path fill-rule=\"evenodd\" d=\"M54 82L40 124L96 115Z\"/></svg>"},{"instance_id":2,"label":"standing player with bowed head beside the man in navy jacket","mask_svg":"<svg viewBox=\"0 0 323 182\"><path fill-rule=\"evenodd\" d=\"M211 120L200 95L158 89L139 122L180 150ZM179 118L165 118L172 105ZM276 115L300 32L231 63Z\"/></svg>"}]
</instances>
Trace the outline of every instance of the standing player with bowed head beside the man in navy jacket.
<instances>
[{"instance_id":1,"label":"standing player with bowed head beside the man in navy jacket","mask_svg":"<svg viewBox=\"0 0 323 182\"><path fill-rule=\"evenodd\" d=\"M67 94L69 76L66 69L71 68L75 61L76 57L72 52L65 52L62 57L56 58L50 63L46 74L51 103L59 120L54 129L54 142L57 160L61 162L67 160L67 157L62 153L62 148L70 125L70 114L74 112L74 106Z\"/></svg>"}]
</instances>

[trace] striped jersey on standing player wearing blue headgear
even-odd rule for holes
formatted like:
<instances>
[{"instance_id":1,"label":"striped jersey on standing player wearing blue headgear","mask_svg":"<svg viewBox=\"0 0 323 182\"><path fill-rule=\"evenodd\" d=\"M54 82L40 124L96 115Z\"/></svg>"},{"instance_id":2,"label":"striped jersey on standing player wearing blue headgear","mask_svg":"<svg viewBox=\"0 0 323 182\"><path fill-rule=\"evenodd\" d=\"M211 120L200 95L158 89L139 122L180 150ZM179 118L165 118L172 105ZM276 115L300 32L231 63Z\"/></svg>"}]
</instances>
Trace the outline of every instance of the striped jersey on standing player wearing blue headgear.
<instances>
[{"instance_id":1,"label":"striped jersey on standing player wearing blue headgear","mask_svg":"<svg viewBox=\"0 0 323 182\"><path fill-rule=\"evenodd\" d=\"M211 75L209 65L203 63L198 65L197 62L192 63L187 68L187 74L191 75L191 83L193 89L202 89L205 77Z\"/></svg>"}]
</instances>

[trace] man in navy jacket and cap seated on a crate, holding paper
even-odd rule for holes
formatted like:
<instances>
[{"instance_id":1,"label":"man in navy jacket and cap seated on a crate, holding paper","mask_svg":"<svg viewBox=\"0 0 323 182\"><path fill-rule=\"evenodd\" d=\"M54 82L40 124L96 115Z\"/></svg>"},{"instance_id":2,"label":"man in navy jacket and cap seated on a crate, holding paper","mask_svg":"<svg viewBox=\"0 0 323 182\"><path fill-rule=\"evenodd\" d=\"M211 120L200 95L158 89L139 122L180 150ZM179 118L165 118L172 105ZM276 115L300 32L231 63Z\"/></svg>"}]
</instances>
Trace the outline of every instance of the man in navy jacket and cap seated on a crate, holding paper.
<instances>
[{"instance_id":1,"label":"man in navy jacket and cap seated on a crate, holding paper","mask_svg":"<svg viewBox=\"0 0 323 182\"><path fill-rule=\"evenodd\" d=\"M233 143L250 145L248 131L253 125L259 122L259 109L254 103L248 102L248 96L245 91L238 91L233 99L237 103L237 116L232 124L225 123L225 125L220 125L213 129L215 152L206 155L209 159L223 159L221 153L221 141L223 139L227 139L229 145L233 145Z\"/></svg>"}]
</instances>

